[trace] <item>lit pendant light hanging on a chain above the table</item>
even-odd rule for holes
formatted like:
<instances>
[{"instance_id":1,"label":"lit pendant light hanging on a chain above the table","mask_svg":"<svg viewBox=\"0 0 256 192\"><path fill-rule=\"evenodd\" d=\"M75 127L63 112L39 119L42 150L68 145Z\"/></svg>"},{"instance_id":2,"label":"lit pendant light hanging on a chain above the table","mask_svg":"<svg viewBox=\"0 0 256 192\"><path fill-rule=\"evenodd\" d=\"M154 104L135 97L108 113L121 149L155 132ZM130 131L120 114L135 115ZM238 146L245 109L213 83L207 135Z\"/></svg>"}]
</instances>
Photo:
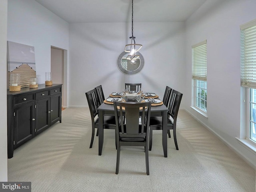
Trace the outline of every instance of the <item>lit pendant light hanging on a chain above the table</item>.
<instances>
[{"instance_id":1,"label":"lit pendant light hanging on a chain above the table","mask_svg":"<svg viewBox=\"0 0 256 192\"><path fill-rule=\"evenodd\" d=\"M136 52L142 48L142 44L136 44L135 43L135 37L133 36L133 0L132 0L132 36L130 37L131 39L131 44L127 44L124 48L125 52L129 52L128 56L126 59L128 60L136 60L139 58L138 55L136 55Z\"/></svg>"}]
</instances>

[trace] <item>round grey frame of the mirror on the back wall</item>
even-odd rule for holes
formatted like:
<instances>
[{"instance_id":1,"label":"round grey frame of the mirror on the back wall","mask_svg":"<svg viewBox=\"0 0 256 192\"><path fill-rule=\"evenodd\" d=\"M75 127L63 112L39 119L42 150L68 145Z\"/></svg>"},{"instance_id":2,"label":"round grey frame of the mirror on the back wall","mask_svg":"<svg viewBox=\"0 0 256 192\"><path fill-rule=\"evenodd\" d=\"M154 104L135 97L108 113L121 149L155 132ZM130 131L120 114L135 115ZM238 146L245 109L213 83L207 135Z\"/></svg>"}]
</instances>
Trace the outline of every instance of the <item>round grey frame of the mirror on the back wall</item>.
<instances>
[{"instance_id":1,"label":"round grey frame of the mirror on the back wall","mask_svg":"<svg viewBox=\"0 0 256 192\"><path fill-rule=\"evenodd\" d=\"M125 69L122 67L122 65L121 65L121 60L122 60L122 58L123 58L123 56L124 56L125 54L127 54L127 52L124 51L124 52L122 52L122 53L118 56L118 58L117 58L116 64L117 64L118 69L119 69L122 73L124 73L124 74L126 74L126 75L135 75L135 74L138 74L139 72L141 72L141 70L144 68L144 64L145 64L145 60L144 60L144 57L142 56L142 54L141 54L140 52L136 52L136 55L139 55L139 56L140 56L140 66L139 66L136 70L134 70L134 71L128 71L128 70L125 70Z\"/></svg>"}]
</instances>

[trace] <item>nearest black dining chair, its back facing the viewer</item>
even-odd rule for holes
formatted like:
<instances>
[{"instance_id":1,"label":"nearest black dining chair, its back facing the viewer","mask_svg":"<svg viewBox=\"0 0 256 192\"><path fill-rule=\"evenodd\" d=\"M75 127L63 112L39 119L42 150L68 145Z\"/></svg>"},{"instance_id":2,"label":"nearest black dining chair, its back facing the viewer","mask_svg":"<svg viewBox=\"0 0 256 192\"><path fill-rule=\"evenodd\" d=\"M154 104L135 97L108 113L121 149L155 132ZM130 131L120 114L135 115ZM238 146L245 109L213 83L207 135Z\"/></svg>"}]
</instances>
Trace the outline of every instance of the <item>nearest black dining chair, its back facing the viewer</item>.
<instances>
[{"instance_id":1,"label":"nearest black dining chair, its back facing the viewer","mask_svg":"<svg viewBox=\"0 0 256 192\"><path fill-rule=\"evenodd\" d=\"M151 102L114 102L116 116L116 174L119 172L120 146L144 146L146 173L149 175L148 146ZM126 122L123 118L125 116ZM139 122L141 116L141 124ZM118 121L119 120L119 121Z\"/></svg>"}]
</instances>

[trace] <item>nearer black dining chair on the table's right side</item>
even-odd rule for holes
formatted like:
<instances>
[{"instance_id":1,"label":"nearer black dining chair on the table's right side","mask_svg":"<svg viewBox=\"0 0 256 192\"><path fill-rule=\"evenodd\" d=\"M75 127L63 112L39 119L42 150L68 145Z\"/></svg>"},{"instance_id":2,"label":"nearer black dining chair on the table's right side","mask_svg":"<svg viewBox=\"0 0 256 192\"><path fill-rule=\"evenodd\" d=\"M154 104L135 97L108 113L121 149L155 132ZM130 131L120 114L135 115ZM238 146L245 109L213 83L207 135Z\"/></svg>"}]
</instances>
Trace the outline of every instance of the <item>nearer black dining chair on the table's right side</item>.
<instances>
[{"instance_id":1,"label":"nearer black dining chair on the table's right side","mask_svg":"<svg viewBox=\"0 0 256 192\"><path fill-rule=\"evenodd\" d=\"M170 130L173 130L173 138L174 143L176 146L176 150L179 150L177 138L176 138L176 122L177 122L177 116L178 116L178 110L180 108L180 102L182 99L182 93L172 90L172 93L170 95L170 102L168 105L168 118L167 118L167 132L169 138ZM150 134L149 134L149 150L152 149L152 130L162 130L162 117L161 116L151 116L150 117Z\"/></svg>"}]
</instances>

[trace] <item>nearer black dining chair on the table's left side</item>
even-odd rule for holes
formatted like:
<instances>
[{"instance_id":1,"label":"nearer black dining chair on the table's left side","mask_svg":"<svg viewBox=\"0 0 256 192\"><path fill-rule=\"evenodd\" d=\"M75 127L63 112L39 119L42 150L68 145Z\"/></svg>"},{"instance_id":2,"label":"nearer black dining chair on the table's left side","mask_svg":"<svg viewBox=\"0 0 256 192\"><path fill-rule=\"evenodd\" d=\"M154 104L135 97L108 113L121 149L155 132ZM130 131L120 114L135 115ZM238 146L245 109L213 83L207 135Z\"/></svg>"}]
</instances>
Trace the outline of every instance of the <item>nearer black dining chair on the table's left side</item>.
<instances>
[{"instance_id":1,"label":"nearer black dining chair on the table's left side","mask_svg":"<svg viewBox=\"0 0 256 192\"><path fill-rule=\"evenodd\" d=\"M90 90L85 93L87 102L89 105L90 109L90 114L91 114L91 119L92 119L92 138L91 138L91 143L90 143L90 148L92 148L93 140L94 140L94 134L95 134L95 129L98 129L99 126L99 120L98 117L98 107L99 107L99 102L98 102L98 97L96 95L96 90ZM104 116L103 118L103 128L104 129L115 129L116 128L116 120L115 116Z\"/></svg>"}]
</instances>

